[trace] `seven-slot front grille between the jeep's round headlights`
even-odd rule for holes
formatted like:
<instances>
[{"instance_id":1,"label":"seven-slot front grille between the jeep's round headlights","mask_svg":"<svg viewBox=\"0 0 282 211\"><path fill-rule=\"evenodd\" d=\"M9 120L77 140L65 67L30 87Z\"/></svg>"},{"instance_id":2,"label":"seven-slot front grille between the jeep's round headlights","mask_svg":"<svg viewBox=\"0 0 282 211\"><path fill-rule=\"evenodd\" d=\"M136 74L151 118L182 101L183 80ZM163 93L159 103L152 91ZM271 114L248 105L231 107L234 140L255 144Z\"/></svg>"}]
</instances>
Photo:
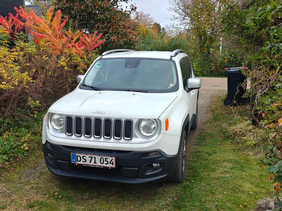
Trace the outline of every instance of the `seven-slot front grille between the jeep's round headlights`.
<instances>
[{"instance_id":1,"label":"seven-slot front grille between the jeep's round headlights","mask_svg":"<svg viewBox=\"0 0 282 211\"><path fill-rule=\"evenodd\" d=\"M65 133L68 136L87 137L93 140L132 139L133 121L130 119L91 118L81 116L66 116ZM89 139L87 139L89 140Z\"/></svg>"}]
</instances>

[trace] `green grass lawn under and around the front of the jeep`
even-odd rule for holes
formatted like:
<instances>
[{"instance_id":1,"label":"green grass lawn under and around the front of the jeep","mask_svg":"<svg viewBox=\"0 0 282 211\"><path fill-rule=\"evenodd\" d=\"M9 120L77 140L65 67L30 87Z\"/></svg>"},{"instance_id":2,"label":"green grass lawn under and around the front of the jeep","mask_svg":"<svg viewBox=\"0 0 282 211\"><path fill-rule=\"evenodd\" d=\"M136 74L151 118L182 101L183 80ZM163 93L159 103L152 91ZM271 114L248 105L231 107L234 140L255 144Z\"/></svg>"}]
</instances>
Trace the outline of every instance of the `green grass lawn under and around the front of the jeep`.
<instances>
[{"instance_id":1,"label":"green grass lawn under and around the front of the jeep","mask_svg":"<svg viewBox=\"0 0 282 211\"><path fill-rule=\"evenodd\" d=\"M13 161L2 165L0 184L6 190L0 190L0 210L254 210L258 199L272 193L267 172L259 168L257 156L226 137L234 116L222 97L211 105L182 183L129 185L58 177L42 165L36 144L26 163L15 169Z\"/></svg>"}]
</instances>

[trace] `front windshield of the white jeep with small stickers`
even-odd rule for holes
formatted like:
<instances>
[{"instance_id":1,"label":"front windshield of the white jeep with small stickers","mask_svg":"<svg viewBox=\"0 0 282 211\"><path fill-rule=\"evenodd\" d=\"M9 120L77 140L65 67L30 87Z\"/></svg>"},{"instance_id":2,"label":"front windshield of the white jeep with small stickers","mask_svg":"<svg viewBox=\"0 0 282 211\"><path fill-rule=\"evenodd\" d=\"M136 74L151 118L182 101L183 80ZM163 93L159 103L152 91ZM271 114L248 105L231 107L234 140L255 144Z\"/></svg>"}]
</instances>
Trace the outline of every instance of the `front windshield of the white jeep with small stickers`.
<instances>
[{"instance_id":1,"label":"front windshield of the white jeep with small stickers","mask_svg":"<svg viewBox=\"0 0 282 211\"><path fill-rule=\"evenodd\" d=\"M99 59L88 71L80 89L174 92L178 90L175 69L175 63L165 59Z\"/></svg>"}]
</instances>

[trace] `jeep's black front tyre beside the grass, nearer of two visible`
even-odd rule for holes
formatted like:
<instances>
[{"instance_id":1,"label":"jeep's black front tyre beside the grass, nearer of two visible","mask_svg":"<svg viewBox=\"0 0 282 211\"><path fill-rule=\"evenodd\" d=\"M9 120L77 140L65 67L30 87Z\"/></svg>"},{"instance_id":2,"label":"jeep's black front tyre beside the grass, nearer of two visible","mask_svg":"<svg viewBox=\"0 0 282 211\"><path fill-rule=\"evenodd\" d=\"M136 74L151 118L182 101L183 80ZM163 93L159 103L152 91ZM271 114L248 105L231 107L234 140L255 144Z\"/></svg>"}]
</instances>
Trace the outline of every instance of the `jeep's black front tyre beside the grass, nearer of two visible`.
<instances>
[{"instance_id":1,"label":"jeep's black front tyre beside the grass, nearer of two visible","mask_svg":"<svg viewBox=\"0 0 282 211\"><path fill-rule=\"evenodd\" d=\"M185 169L186 169L186 132L182 132L182 141L180 142L181 147L178 154L178 161L175 170L172 174L171 180L173 182L182 182L185 179Z\"/></svg>"}]
</instances>

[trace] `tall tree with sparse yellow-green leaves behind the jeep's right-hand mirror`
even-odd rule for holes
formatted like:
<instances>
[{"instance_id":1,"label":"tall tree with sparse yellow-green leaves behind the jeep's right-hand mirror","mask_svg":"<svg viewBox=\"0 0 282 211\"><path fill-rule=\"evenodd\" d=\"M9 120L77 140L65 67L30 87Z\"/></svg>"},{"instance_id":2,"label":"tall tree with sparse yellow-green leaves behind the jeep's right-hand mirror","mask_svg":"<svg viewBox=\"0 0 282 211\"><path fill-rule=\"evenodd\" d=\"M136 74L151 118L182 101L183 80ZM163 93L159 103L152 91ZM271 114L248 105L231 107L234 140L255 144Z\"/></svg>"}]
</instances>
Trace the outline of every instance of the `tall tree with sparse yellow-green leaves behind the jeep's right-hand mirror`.
<instances>
[{"instance_id":1,"label":"tall tree with sparse yellow-green leaves behind the jeep's right-hand mirror","mask_svg":"<svg viewBox=\"0 0 282 211\"><path fill-rule=\"evenodd\" d=\"M201 75L214 74L213 58L219 55L222 0L170 0L170 11L197 48L197 67ZM216 54L215 54L216 53ZM218 69L218 68L216 68ZM223 72L223 70L221 70Z\"/></svg>"}]
</instances>

